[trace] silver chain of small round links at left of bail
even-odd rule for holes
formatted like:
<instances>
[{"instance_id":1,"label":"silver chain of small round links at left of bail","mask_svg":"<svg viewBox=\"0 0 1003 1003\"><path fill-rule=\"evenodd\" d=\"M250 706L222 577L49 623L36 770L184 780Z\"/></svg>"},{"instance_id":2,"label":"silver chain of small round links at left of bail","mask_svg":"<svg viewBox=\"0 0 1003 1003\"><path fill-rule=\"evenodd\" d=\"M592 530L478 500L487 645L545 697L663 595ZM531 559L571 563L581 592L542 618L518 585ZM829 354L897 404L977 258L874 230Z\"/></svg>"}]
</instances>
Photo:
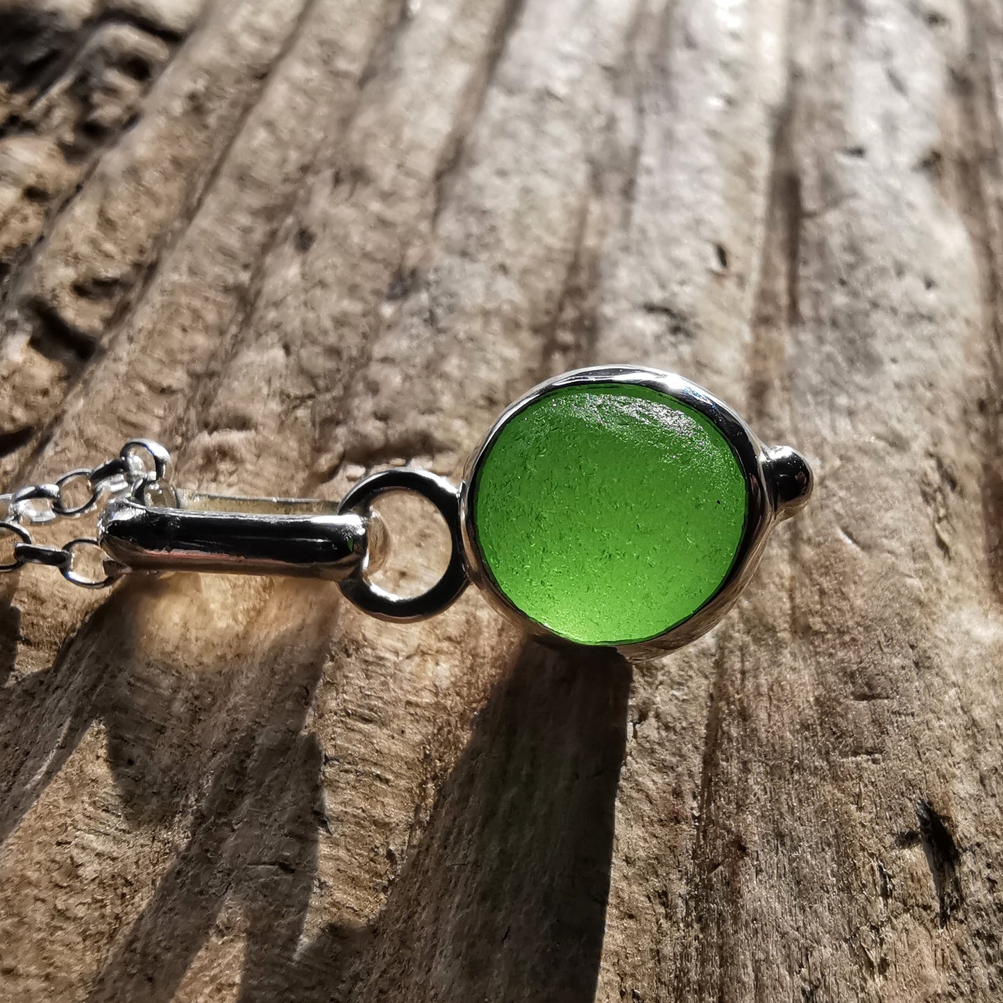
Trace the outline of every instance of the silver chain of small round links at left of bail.
<instances>
[{"instance_id":1,"label":"silver chain of small round links at left of bail","mask_svg":"<svg viewBox=\"0 0 1003 1003\"><path fill-rule=\"evenodd\" d=\"M26 564L56 568L67 582L84 589L103 589L118 579L125 569L111 561L93 537L78 537L62 547L36 544L28 527L56 520L79 519L100 511L108 500L134 493L145 485L166 479L171 453L152 439L129 439L119 451L97 466L69 470L53 483L29 484L20 490L0 494L0 541L12 536L14 559L0 563L0 574L14 572ZM85 489L80 500L74 491ZM79 570L78 560L87 550L101 559L102 578L89 577Z\"/></svg>"}]
</instances>

